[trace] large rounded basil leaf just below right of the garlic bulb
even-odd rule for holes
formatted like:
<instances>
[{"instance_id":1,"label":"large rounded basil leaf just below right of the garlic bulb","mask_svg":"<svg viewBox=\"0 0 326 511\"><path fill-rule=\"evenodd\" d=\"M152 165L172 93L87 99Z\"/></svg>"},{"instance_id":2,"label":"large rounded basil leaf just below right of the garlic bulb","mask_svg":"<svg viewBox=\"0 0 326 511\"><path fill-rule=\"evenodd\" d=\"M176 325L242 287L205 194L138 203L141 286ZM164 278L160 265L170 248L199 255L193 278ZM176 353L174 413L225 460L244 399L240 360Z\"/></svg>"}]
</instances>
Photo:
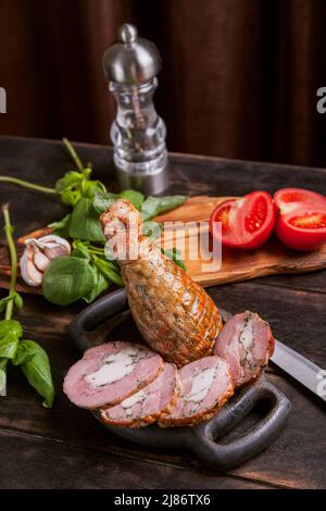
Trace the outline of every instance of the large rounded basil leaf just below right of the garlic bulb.
<instances>
[{"instance_id":1,"label":"large rounded basil leaf just below right of the garlic bulb","mask_svg":"<svg viewBox=\"0 0 326 511\"><path fill-rule=\"evenodd\" d=\"M68 306L88 296L95 285L95 271L85 259L53 259L43 274L42 294L57 306Z\"/></svg>"}]
</instances>

